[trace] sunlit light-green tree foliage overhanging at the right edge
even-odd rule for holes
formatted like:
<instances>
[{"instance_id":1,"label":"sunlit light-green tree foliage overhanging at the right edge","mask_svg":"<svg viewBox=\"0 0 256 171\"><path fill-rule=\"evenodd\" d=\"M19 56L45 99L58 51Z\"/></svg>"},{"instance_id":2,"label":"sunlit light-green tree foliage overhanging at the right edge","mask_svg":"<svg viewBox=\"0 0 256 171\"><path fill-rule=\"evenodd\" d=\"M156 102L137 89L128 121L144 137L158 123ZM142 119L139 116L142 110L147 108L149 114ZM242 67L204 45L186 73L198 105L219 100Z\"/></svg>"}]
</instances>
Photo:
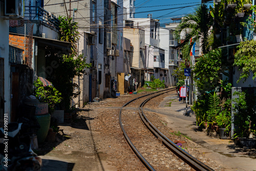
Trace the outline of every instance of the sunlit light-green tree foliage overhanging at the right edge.
<instances>
[{"instance_id":1,"label":"sunlit light-green tree foliage overhanging at the right edge","mask_svg":"<svg viewBox=\"0 0 256 171\"><path fill-rule=\"evenodd\" d=\"M239 71L242 71L239 82L242 78L244 81L253 74L252 79L256 77L256 41L246 40L240 42L238 51L234 55L234 66L238 66Z\"/></svg>"}]
</instances>

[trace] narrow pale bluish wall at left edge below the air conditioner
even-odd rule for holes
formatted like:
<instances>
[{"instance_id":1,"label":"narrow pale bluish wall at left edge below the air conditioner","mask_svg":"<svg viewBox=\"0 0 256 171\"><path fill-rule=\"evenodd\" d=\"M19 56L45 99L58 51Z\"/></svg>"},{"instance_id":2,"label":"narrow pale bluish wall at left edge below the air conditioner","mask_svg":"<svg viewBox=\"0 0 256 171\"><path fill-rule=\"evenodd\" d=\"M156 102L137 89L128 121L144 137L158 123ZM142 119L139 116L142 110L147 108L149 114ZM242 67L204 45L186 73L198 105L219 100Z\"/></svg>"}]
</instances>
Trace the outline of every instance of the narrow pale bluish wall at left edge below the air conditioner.
<instances>
[{"instance_id":1,"label":"narrow pale bluish wall at left edge below the air conditioner","mask_svg":"<svg viewBox=\"0 0 256 171\"><path fill-rule=\"evenodd\" d=\"M10 80L10 65L9 65L9 20L0 18L0 57L4 58L4 72L5 72L5 114L8 114L8 119L11 119L11 80Z\"/></svg>"}]
</instances>

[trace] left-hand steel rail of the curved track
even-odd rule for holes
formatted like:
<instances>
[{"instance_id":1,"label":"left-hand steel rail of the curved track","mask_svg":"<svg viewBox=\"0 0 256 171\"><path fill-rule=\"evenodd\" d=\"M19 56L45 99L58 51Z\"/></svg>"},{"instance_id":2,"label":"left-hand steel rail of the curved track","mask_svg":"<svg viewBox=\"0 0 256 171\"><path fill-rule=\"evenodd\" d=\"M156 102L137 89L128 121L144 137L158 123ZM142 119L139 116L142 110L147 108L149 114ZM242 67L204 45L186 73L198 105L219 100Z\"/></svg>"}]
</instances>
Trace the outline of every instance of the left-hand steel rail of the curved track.
<instances>
[{"instance_id":1,"label":"left-hand steel rail of the curved track","mask_svg":"<svg viewBox=\"0 0 256 171\"><path fill-rule=\"evenodd\" d=\"M174 90L175 88L171 88L171 89L167 89L167 90L162 90L162 91L159 91L159 92L164 92L164 91L171 91L171 90ZM155 93L159 93L159 92L155 92ZM146 159L140 154L140 152L138 151L138 149L135 147L135 145L132 143L131 139L127 136L125 130L124 130L124 127L123 127L123 123L122 123L122 120L121 120L121 112L122 112L122 109L124 108L124 106L126 106L127 104L131 103L132 101L135 101L139 98L142 98L142 97L145 97L145 96L149 96L149 95L152 95L152 94L155 94L155 93L151 93L151 94L146 94L144 96L140 96L140 97L137 97L135 99L132 99L130 100L129 102L125 103L121 109L120 109L120 112L119 112L119 124L120 124L120 127L122 129L122 132L123 132L123 135L126 139L126 141L129 143L130 147L133 149L134 153L137 155L137 157L142 161L142 163L149 169L149 170L152 170L152 171L155 171L155 168L146 161Z\"/></svg>"}]
</instances>

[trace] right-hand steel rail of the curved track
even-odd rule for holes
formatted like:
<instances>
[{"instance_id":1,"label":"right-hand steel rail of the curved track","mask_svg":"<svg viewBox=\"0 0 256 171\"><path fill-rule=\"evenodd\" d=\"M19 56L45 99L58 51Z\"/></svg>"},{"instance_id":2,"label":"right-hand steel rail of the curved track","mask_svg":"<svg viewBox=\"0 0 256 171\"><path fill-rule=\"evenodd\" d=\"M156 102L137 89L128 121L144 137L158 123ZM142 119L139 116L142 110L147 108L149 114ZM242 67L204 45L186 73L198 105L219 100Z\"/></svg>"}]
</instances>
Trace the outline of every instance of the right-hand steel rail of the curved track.
<instances>
[{"instance_id":1,"label":"right-hand steel rail of the curved track","mask_svg":"<svg viewBox=\"0 0 256 171\"><path fill-rule=\"evenodd\" d=\"M163 94L163 93L161 93ZM194 168L195 170L214 170L210 168L209 166L205 165L201 161L199 161L197 158L191 156L186 151L184 151L181 147L176 145L173 141L170 141L165 135L163 135L144 115L142 107L144 104L151 100L154 97L157 97L161 94L157 94L155 96L152 96L146 100L144 100L140 106L139 106L139 115L143 123L147 126L147 128L158 138L161 140L161 142L168 148L170 151L172 151L176 156L178 156L180 159L182 159L185 163L187 163L190 167Z\"/></svg>"}]
</instances>

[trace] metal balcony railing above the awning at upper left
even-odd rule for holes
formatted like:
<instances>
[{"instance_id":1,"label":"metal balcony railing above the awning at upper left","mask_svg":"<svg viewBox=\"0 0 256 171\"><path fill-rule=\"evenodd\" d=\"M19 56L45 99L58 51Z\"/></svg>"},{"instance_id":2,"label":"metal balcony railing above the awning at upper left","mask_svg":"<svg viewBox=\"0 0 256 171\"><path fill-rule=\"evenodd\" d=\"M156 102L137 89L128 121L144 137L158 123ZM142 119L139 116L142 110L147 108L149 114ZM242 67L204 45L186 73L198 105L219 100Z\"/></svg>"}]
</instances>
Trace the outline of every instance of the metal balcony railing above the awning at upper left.
<instances>
[{"instance_id":1,"label":"metal balcony railing above the awning at upper left","mask_svg":"<svg viewBox=\"0 0 256 171\"><path fill-rule=\"evenodd\" d=\"M41 20L42 22L59 29L59 19L39 6L25 6L24 18Z\"/></svg>"}]
</instances>

